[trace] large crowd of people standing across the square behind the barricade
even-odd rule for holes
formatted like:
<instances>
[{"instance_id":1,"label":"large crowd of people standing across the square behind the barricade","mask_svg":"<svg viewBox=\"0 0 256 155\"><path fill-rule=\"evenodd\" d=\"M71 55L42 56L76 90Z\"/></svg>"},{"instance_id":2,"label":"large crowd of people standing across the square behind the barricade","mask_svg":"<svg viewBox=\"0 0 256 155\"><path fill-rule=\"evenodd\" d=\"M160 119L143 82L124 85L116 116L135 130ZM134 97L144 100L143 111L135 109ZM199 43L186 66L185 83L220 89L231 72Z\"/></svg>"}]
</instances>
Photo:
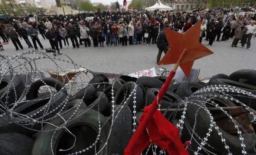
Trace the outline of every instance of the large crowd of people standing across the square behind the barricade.
<instances>
[{"instance_id":1,"label":"large crowd of people standing across the square behind the barricade","mask_svg":"<svg viewBox=\"0 0 256 155\"><path fill-rule=\"evenodd\" d=\"M73 48L127 46L141 44L146 46L158 44L159 52L157 63L162 52L167 52L168 43L163 27L185 33L197 21L202 21L199 41L205 37L212 46L215 41L226 41L234 38L231 47L237 47L241 40L241 47L246 44L251 49L251 38L256 34L255 12L234 12L234 10L206 10L197 8L189 12L133 11L133 12L94 12L94 18L87 20L86 14L76 16L54 16L42 18L37 22L28 21L27 17L19 17L0 22L0 37L3 43L9 40L15 45L16 50L23 49L20 39L24 39L28 48L37 49L37 44L43 48L38 35L48 39L53 51L59 48ZM161 33L162 32L162 33ZM221 37L222 34L222 38ZM30 43L32 40L33 45ZM160 45L161 44L161 45ZM18 47L19 46L19 47ZM1 48L2 49L2 48ZM56 55L54 53L54 55Z\"/></svg>"}]
</instances>

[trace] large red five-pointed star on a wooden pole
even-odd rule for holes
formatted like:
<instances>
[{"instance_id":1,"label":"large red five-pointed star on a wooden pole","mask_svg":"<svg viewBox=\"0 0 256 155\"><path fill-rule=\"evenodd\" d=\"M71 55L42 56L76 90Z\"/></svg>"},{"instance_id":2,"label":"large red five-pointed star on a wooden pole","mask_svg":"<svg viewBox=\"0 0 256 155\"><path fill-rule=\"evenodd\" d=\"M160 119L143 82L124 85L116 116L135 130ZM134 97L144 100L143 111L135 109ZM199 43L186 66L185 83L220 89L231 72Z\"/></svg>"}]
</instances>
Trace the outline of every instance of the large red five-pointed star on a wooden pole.
<instances>
[{"instance_id":1,"label":"large red five-pointed star on a wooden pole","mask_svg":"<svg viewBox=\"0 0 256 155\"><path fill-rule=\"evenodd\" d=\"M170 45L170 49L160 60L158 65L175 64L179 59L182 51L187 49L187 54L180 63L180 68L188 77L194 64L194 60L213 54L211 50L199 42L201 30L201 21L198 21L184 34L164 29L165 36Z\"/></svg>"}]
</instances>

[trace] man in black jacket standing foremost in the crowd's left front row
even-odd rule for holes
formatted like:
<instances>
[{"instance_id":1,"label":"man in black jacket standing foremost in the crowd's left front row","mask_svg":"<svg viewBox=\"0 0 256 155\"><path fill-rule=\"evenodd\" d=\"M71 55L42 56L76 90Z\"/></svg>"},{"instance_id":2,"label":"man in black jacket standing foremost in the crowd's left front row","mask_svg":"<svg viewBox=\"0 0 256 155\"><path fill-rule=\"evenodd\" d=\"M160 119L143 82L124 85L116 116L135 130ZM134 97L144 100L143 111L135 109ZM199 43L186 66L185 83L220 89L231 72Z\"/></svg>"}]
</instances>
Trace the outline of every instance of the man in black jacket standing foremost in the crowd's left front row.
<instances>
[{"instance_id":1,"label":"man in black jacket standing foremost in the crowd's left front row","mask_svg":"<svg viewBox=\"0 0 256 155\"><path fill-rule=\"evenodd\" d=\"M60 54L59 47L58 47L57 34L54 31L52 31L52 28L50 26L47 27L47 30L48 31L46 32L46 38L49 40L51 44L53 55L56 56L55 50L57 50L58 54Z\"/></svg>"}]
</instances>

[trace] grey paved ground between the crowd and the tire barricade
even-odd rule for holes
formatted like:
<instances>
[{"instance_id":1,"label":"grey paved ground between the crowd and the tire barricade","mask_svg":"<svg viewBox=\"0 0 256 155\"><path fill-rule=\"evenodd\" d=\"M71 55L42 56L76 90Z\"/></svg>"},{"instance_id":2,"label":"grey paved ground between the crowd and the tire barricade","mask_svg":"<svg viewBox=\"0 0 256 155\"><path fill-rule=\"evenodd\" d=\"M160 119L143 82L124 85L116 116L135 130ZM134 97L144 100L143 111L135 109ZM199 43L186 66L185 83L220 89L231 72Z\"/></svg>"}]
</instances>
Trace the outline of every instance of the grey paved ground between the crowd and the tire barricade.
<instances>
[{"instance_id":1,"label":"grey paved ground between the crowd and the tire barricade","mask_svg":"<svg viewBox=\"0 0 256 155\"><path fill-rule=\"evenodd\" d=\"M50 47L47 39L44 40L42 36L39 36L39 39L44 48ZM215 41L212 47L209 47L214 54L194 62L193 68L201 69L199 77L210 77L218 73L229 75L239 69L256 69L256 39L252 38L251 40L251 50L247 50L246 47L240 48L241 44L238 44L238 48L231 48L232 41L233 39L222 42ZM69 42L71 43L70 40ZM24 50L15 51L14 45L10 42L9 45L4 45L5 50L1 51L0 54L12 56L29 50L23 39L21 43L24 46ZM203 40L202 44L207 46L208 42ZM155 44L146 46L145 43L124 47L119 44L118 47L109 46L103 48L85 48L84 45L81 45L80 48L75 49L72 47L67 49L63 48L62 52L68 55L71 60L77 64L81 64L83 67L94 72L132 73L155 67L158 48ZM53 55L51 55L51 57L53 57ZM66 59L64 55L57 55L57 57ZM58 64L62 68L71 68L71 66L66 63L58 62ZM37 61L37 67L54 68L47 60ZM165 67L172 69L172 65L165 65Z\"/></svg>"}]
</instances>

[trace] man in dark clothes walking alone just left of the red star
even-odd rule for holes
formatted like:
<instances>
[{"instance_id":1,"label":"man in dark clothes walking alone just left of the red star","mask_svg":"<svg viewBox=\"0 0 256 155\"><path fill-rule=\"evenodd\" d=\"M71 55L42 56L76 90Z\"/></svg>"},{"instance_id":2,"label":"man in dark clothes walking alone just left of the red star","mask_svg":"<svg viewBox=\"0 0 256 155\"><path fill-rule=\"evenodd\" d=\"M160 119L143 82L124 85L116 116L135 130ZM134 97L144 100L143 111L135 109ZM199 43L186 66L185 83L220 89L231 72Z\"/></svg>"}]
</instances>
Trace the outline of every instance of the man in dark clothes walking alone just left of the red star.
<instances>
[{"instance_id":1,"label":"man in dark clothes walking alone just left of the red star","mask_svg":"<svg viewBox=\"0 0 256 155\"><path fill-rule=\"evenodd\" d=\"M167 24L167 26L168 26L168 24ZM167 51L169 50L169 45L168 45L168 42L167 42L167 39L165 36L165 30L162 30L159 33L156 45L158 47L158 56L156 57L156 63L158 64L160 62L162 52L165 52L165 54L166 54Z\"/></svg>"}]
</instances>

